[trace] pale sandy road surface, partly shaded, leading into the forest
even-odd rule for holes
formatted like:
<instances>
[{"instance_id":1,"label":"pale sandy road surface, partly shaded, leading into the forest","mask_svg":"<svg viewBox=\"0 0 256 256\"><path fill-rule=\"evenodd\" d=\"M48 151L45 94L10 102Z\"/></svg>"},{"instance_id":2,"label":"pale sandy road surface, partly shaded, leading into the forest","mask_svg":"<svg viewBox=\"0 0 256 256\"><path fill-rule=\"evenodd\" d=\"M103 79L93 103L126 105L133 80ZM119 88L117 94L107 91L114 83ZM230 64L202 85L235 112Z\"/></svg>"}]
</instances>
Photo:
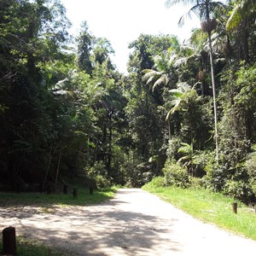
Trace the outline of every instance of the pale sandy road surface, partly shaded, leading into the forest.
<instances>
[{"instance_id":1,"label":"pale sandy road surface, partly shaded, leading into the forest","mask_svg":"<svg viewBox=\"0 0 256 256\"><path fill-rule=\"evenodd\" d=\"M0 228L62 247L67 255L254 255L256 241L203 224L142 189L97 206L1 208ZM256 232L256 230L255 230Z\"/></svg>"}]
</instances>

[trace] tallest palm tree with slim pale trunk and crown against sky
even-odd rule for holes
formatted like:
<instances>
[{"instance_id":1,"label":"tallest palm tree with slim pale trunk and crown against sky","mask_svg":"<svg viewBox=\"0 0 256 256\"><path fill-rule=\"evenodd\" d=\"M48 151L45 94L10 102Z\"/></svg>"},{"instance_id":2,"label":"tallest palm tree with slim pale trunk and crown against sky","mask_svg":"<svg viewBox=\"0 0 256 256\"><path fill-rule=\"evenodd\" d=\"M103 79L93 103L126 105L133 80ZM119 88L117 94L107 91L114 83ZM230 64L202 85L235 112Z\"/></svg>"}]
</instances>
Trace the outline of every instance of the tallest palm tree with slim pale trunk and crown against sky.
<instances>
[{"instance_id":1,"label":"tallest palm tree with slim pale trunk and crown against sky","mask_svg":"<svg viewBox=\"0 0 256 256\"><path fill-rule=\"evenodd\" d=\"M221 2L213 2L212 0L167 0L166 7L170 8L177 3L194 4L189 12L183 15L178 21L179 26L183 26L187 17L191 19L191 15L197 15L201 20L201 27L203 32L207 32L208 43L210 49L210 63L211 63L211 75L212 75L212 96L213 96L213 109L214 109L214 130L215 130L215 144L216 144L216 160L218 162L218 115L217 115L217 103L216 103L216 90L212 57L212 30L217 26L217 21L213 18L213 15L223 5Z\"/></svg>"}]
</instances>

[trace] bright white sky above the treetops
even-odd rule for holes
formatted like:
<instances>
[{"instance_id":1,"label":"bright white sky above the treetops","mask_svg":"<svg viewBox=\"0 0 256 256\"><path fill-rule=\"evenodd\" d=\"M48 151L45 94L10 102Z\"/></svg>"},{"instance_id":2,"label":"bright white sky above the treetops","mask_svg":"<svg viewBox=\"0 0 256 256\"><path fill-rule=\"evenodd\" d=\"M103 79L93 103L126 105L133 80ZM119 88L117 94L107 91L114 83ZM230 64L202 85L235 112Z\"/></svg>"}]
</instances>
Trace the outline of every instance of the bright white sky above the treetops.
<instances>
[{"instance_id":1,"label":"bright white sky above the treetops","mask_svg":"<svg viewBox=\"0 0 256 256\"><path fill-rule=\"evenodd\" d=\"M73 23L71 33L79 32L86 20L89 31L97 38L107 38L115 55L113 63L119 72L126 73L129 57L128 44L141 33L172 34L183 41L191 29L199 26L198 20L187 20L182 28L179 18L189 6L177 5L166 9L166 0L61 0L67 9L67 18Z\"/></svg>"}]
</instances>

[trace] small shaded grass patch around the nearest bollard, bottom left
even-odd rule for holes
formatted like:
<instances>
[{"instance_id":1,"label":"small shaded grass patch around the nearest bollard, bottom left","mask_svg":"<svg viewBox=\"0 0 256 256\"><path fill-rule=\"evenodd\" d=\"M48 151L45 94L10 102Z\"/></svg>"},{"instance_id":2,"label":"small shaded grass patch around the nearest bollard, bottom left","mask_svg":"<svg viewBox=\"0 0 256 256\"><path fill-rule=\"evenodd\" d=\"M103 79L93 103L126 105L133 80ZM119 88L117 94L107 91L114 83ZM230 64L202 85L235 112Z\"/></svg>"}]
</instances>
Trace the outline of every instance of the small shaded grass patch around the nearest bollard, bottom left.
<instances>
[{"instance_id":1,"label":"small shaded grass patch around the nearest bollard, bottom left","mask_svg":"<svg viewBox=\"0 0 256 256\"><path fill-rule=\"evenodd\" d=\"M17 255L19 256L67 256L67 252L62 251L61 249L52 249L45 246L44 244L38 241L32 241L25 239L22 236L17 236ZM0 235L0 255L3 252L3 241L2 235Z\"/></svg>"}]
</instances>

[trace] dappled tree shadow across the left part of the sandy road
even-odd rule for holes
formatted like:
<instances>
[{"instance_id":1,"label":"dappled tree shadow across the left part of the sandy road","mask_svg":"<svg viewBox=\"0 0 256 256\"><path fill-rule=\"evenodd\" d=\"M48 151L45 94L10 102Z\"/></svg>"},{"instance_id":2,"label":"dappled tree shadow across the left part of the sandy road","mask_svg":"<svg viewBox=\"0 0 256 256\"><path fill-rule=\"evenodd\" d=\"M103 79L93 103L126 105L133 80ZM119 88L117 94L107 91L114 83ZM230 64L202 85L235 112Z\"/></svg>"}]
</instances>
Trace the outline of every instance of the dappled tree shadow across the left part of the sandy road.
<instances>
[{"instance_id":1,"label":"dappled tree shadow across the left part of the sandy road","mask_svg":"<svg viewBox=\"0 0 256 256\"><path fill-rule=\"evenodd\" d=\"M125 193L125 191L121 192ZM172 218L119 209L112 200L91 207L57 207L52 212L0 212L22 236L67 249L68 255L163 255L177 252ZM113 252L115 252L113 254Z\"/></svg>"}]
</instances>

